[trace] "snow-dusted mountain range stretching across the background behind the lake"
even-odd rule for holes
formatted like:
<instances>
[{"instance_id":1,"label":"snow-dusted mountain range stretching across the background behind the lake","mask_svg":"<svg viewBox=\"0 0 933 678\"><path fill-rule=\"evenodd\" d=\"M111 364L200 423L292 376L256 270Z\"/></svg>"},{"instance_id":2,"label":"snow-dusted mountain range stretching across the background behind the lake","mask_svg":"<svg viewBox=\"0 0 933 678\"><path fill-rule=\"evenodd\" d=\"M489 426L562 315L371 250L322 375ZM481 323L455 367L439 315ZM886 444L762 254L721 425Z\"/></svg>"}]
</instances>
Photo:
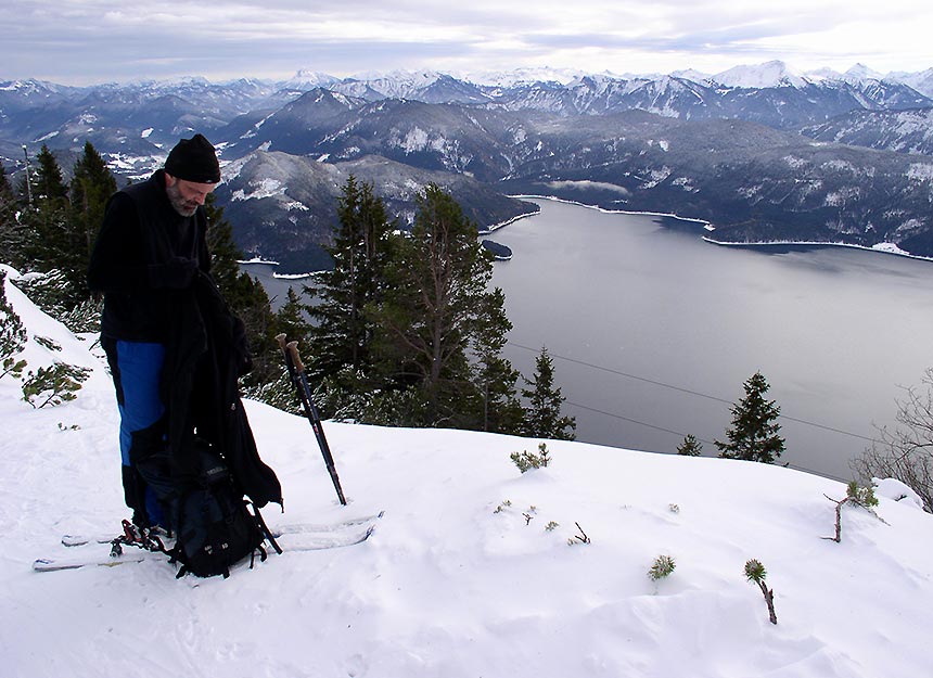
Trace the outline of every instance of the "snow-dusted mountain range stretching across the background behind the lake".
<instances>
[{"instance_id":1,"label":"snow-dusted mountain range stretching across the background behind the lake","mask_svg":"<svg viewBox=\"0 0 933 678\"><path fill-rule=\"evenodd\" d=\"M227 166L218 194L241 246L293 270L323 260L349 171L378 180L402 220L430 180L456 187L481 227L527 209L504 194L545 193L706 219L724 241L892 243L933 256L931 110L933 68L798 74L782 62L713 75L27 80L0 84L0 161L15 174L24 144L47 144L67 172L91 141L114 171L141 177L179 137L204 132Z\"/></svg>"}]
</instances>

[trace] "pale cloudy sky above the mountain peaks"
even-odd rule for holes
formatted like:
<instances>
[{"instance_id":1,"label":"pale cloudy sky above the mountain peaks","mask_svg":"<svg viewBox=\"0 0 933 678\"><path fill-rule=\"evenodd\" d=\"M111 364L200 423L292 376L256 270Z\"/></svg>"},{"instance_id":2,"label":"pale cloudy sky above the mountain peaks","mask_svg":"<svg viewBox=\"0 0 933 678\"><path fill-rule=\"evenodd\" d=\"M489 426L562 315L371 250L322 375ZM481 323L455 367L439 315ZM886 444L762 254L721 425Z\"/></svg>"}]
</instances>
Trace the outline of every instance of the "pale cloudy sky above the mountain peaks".
<instances>
[{"instance_id":1,"label":"pale cloudy sky above the mountain peaks","mask_svg":"<svg viewBox=\"0 0 933 678\"><path fill-rule=\"evenodd\" d=\"M933 66L930 0L2 0L0 81Z\"/></svg>"}]
</instances>

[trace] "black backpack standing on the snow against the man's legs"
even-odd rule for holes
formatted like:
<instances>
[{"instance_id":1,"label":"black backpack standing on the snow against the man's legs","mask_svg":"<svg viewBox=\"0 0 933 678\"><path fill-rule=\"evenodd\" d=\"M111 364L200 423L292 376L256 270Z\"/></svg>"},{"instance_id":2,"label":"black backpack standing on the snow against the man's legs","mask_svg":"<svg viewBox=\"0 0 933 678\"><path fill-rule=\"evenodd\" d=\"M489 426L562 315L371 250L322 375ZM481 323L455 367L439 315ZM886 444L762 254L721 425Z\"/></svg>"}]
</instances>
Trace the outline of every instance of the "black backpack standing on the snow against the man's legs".
<instances>
[{"instance_id":1,"label":"black backpack standing on the snow against the man's legs","mask_svg":"<svg viewBox=\"0 0 933 678\"><path fill-rule=\"evenodd\" d=\"M281 553L259 510L237 490L220 457L201 440L195 445L195 455L196 476L186 482L172 478L168 453L137 462L176 536L175 546L166 552L171 562L181 563L178 577L191 573L227 578L230 567L247 557L251 567L257 554L265 561L263 543L267 539Z\"/></svg>"}]
</instances>

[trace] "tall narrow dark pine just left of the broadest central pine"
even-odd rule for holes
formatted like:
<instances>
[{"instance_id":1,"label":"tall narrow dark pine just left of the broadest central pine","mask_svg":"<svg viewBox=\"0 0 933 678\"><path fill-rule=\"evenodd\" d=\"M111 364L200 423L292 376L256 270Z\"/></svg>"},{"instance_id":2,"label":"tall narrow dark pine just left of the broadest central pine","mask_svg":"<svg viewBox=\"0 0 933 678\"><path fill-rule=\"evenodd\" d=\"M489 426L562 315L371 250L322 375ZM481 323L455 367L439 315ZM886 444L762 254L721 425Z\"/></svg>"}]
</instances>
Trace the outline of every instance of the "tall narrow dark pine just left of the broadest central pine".
<instances>
[{"instance_id":1,"label":"tall narrow dark pine just left of the broadest central pine","mask_svg":"<svg viewBox=\"0 0 933 678\"><path fill-rule=\"evenodd\" d=\"M311 292L317 304L307 307L315 321L310 333L309 367L316 379L368 374L372 368L375 325L368 308L381 300L385 269L393 256L394 223L386 217L372 184L352 175L337 202L338 228L325 247L333 268L322 272Z\"/></svg>"}]
</instances>

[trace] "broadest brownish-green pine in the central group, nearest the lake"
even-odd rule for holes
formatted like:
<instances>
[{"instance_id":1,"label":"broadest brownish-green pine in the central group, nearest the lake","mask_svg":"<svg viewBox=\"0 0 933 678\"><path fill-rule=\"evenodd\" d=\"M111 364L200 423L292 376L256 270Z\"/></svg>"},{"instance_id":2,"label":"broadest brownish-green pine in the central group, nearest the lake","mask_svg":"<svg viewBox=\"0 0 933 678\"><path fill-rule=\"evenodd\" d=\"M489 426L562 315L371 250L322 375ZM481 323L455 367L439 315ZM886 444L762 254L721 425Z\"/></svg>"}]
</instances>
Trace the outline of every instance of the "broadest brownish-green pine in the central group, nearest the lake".
<instances>
[{"instance_id":1,"label":"broadest brownish-green pine in the central group, nearest the lake","mask_svg":"<svg viewBox=\"0 0 933 678\"><path fill-rule=\"evenodd\" d=\"M487 323L497 322L501 295L488 291L493 257L477 242L476 226L439 187L417 199L411 235L399 243L387 270L389 285L375 318L380 356L399 384L418 389L421 421L410 424L476 428L477 384L470 355L482 356Z\"/></svg>"}]
</instances>

